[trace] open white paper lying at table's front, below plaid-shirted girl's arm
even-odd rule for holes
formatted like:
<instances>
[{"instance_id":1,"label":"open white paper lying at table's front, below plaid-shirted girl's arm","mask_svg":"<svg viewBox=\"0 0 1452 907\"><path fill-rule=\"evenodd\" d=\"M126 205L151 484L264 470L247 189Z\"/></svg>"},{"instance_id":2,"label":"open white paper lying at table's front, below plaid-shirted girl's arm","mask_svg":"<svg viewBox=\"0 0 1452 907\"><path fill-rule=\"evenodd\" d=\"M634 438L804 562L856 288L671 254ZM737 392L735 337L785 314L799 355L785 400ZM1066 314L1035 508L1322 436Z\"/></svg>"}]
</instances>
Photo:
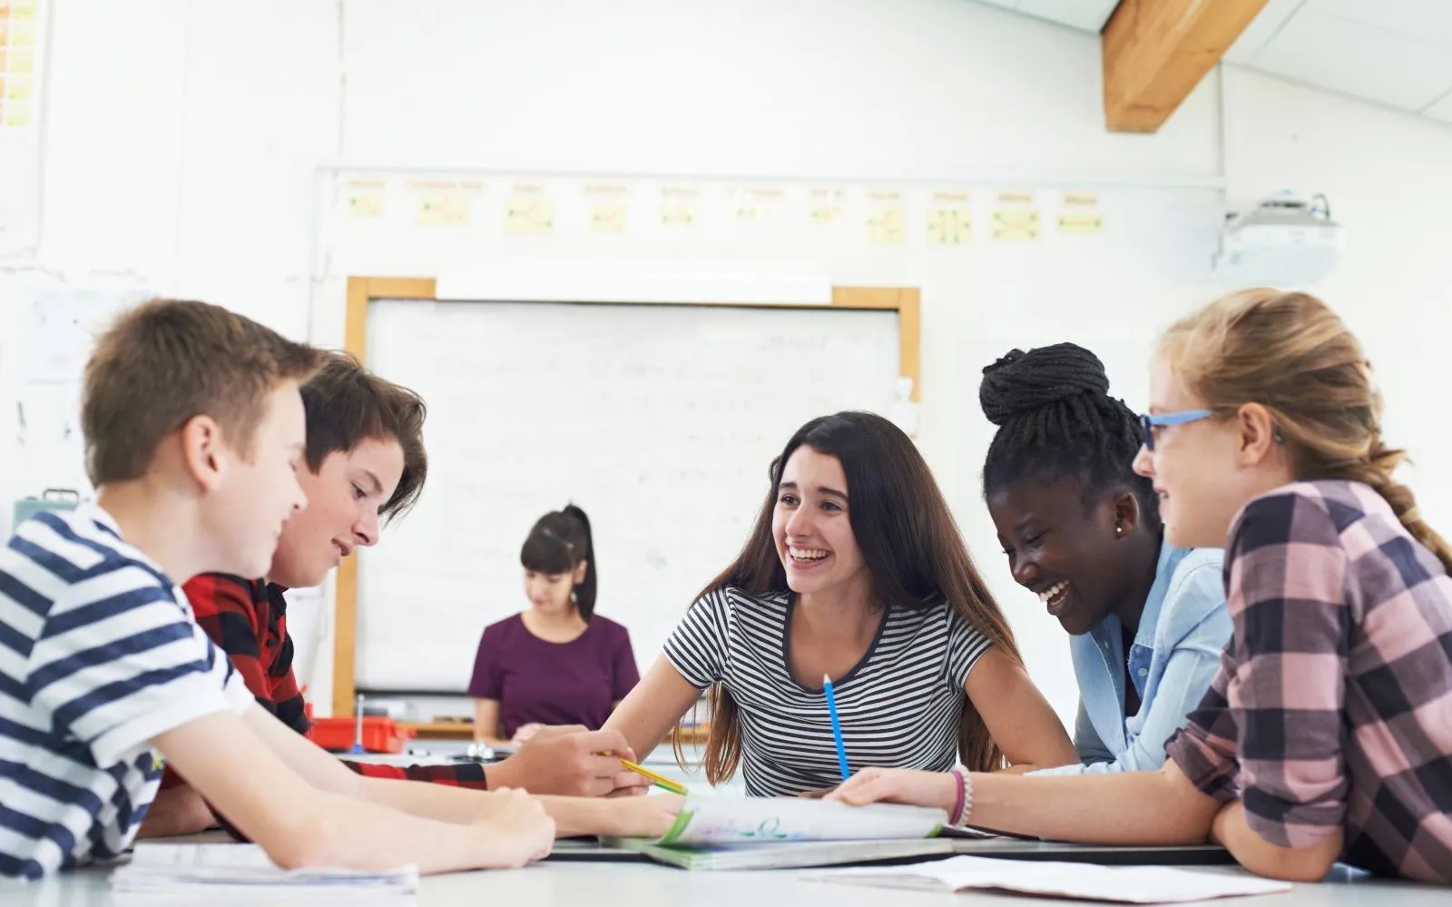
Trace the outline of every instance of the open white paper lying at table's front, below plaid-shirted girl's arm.
<instances>
[{"instance_id":1,"label":"open white paper lying at table's front, below plaid-shirted girl's arm","mask_svg":"<svg viewBox=\"0 0 1452 907\"><path fill-rule=\"evenodd\" d=\"M1291 885L1253 876L1244 871L1194 872L1166 866L1093 866L955 856L916 866L833 869L802 878L819 882L916 888L923 891L968 891L1000 888L1047 897L1069 897L1125 904L1173 904L1247 894L1276 894Z\"/></svg>"}]
</instances>

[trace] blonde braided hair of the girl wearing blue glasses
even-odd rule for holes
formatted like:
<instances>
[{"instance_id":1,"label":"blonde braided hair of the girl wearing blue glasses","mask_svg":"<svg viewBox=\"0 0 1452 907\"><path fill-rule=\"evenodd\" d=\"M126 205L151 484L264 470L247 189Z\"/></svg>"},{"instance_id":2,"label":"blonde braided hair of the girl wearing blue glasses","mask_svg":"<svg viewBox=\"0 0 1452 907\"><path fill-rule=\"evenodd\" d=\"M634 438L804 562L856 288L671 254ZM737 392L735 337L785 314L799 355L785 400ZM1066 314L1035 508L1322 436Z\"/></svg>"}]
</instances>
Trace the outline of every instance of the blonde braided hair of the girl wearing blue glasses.
<instances>
[{"instance_id":1,"label":"blonde braided hair of the girl wearing blue glasses","mask_svg":"<svg viewBox=\"0 0 1452 907\"><path fill-rule=\"evenodd\" d=\"M1382 442L1371 363L1324 302L1275 289L1231 294L1170 327L1160 355L1211 411L1263 406L1297 478L1369 485L1452 573L1452 549L1422 519L1411 488L1392 478L1407 455Z\"/></svg>"}]
</instances>

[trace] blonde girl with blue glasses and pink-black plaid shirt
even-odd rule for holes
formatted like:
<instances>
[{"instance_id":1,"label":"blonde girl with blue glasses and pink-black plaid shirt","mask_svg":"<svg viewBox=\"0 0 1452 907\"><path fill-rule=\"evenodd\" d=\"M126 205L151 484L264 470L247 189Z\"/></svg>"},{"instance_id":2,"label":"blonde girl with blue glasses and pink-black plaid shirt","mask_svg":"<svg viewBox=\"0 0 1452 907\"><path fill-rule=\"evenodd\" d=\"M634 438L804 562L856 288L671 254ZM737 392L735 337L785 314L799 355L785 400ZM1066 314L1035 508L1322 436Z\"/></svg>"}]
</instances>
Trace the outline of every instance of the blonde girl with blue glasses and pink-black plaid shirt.
<instances>
[{"instance_id":1,"label":"blonde girl with blue glasses and pink-black plaid shirt","mask_svg":"<svg viewBox=\"0 0 1452 907\"><path fill-rule=\"evenodd\" d=\"M1356 337L1305 294L1225 297L1163 336L1141 423L1165 538L1224 544L1234 622L1165 766L868 769L833 797L967 802L971 823L1059 840L1208 837L1302 882L1342 860L1452 884L1452 551L1392 475Z\"/></svg>"}]
</instances>

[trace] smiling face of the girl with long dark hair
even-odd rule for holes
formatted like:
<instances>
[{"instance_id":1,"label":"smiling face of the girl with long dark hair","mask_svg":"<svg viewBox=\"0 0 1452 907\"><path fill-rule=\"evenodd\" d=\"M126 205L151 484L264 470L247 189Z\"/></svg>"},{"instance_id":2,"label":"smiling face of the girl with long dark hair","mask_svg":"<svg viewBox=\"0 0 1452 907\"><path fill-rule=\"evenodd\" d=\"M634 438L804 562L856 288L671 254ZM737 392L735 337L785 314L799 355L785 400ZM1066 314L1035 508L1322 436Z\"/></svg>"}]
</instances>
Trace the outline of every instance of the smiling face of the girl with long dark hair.
<instances>
[{"instance_id":1,"label":"smiling face of the girl with long dark hair","mask_svg":"<svg viewBox=\"0 0 1452 907\"><path fill-rule=\"evenodd\" d=\"M849 593L871 587L849 516L842 461L807 445L781 468L771 533L787 586L797 594Z\"/></svg>"}]
</instances>

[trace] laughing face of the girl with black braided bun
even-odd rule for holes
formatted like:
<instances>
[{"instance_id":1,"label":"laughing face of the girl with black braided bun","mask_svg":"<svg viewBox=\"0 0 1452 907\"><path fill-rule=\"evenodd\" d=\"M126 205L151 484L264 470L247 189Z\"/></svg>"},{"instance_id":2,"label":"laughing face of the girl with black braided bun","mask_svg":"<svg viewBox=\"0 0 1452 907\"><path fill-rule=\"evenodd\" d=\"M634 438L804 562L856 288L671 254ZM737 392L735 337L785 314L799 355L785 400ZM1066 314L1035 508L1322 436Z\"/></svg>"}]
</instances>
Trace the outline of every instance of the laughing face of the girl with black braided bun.
<instances>
[{"instance_id":1,"label":"laughing face of the girl with black braided bun","mask_svg":"<svg viewBox=\"0 0 1452 907\"><path fill-rule=\"evenodd\" d=\"M1134 494L1095 503L1077 478L1027 478L992 496L989 515L1013 580L1067 632L1089 632L1128 594Z\"/></svg>"}]
</instances>

